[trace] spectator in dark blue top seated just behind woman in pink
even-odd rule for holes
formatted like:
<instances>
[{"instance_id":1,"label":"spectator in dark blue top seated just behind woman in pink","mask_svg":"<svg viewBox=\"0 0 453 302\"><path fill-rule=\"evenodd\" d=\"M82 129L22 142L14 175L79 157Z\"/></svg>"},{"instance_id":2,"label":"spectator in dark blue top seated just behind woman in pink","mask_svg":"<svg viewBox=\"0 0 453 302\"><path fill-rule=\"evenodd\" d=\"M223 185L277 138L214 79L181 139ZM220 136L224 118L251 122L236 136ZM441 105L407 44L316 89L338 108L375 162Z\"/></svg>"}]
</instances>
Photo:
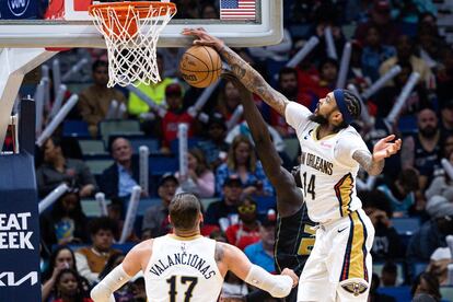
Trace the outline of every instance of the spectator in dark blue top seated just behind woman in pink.
<instances>
[{"instance_id":1,"label":"spectator in dark blue top seated just behind woman in pink","mask_svg":"<svg viewBox=\"0 0 453 302\"><path fill-rule=\"evenodd\" d=\"M198 142L197 147L204 151L209 166L216 169L226 159L228 143L224 142L226 126L219 113L209 117L208 137Z\"/></svg>"}]
</instances>

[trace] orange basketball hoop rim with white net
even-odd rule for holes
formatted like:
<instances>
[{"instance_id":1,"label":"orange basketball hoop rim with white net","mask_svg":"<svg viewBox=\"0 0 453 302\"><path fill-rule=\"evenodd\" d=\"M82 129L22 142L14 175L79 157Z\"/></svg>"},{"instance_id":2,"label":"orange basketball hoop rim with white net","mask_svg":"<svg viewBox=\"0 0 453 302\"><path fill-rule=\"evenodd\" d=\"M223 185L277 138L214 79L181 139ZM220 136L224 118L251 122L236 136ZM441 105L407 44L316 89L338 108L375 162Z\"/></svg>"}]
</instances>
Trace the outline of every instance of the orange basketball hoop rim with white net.
<instances>
[{"instance_id":1,"label":"orange basketball hoop rim with white net","mask_svg":"<svg viewBox=\"0 0 453 302\"><path fill-rule=\"evenodd\" d=\"M101 3L91 5L89 13L107 46L107 86L138 86L161 81L155 51L160 33L176 14L174 3Z\"/></svg>"}]
</instances>

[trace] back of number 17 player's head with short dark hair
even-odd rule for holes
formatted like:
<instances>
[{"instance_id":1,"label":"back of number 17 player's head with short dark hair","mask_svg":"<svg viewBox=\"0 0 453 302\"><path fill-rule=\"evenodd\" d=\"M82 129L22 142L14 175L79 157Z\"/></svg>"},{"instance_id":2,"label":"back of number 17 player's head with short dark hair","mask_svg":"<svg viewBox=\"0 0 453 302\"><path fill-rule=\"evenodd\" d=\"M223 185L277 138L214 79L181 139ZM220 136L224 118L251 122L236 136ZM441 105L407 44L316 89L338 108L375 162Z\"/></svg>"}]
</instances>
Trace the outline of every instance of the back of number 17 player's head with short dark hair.
<instances>
[{"instance_id":1,"label":"back of number 17 player's head with short dark hair","mask_svg":"<svg viewBox=\"0 0 453 302\"><path fill-rule=\"evenodd\" d=\"M169 205L170 219L175 229L191 230L201 212L198 198L190 193L176 194Z\"/></svg>"}]
</instances>

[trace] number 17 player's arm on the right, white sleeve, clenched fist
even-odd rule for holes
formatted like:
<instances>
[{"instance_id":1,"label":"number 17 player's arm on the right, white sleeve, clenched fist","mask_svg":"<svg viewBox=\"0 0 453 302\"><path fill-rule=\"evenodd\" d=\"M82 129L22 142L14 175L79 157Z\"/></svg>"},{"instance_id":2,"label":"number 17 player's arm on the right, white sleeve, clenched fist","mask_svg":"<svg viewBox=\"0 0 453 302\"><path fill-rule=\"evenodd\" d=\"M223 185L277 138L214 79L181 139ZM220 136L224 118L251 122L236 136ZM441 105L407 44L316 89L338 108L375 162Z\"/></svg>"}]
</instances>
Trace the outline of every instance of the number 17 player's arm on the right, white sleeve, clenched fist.
<instances>
[{"instance_id":1,"label":"number 17 player's arm on the right, white sleeve, clenched fist","mask_svg":"<svg viewBox=\"0 0 453 302\"><path fill-rule=\"evenodd\" d=\"M298 276L291 269L283 269L281 275L271 275L252 264L241 249L231 244L217 243L216 260L224 263L240 279L269 292L275 298L287 297L299 282Z\"/></svg>"}]
</instances>

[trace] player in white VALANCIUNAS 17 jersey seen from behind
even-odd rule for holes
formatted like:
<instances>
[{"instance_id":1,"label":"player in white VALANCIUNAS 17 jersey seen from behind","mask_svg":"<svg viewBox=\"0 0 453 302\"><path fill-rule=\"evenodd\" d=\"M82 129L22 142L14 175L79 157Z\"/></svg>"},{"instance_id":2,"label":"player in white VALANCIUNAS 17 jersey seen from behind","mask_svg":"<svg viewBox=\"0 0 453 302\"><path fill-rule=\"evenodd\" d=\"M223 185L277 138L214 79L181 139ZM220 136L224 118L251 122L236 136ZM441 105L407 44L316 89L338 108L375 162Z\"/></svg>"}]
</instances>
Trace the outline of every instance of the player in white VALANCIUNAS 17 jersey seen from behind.
<instances>
[{"instance_id":1,"label":"player in white VALANCIUNAS 17 jersey seen from behind","mask_svg":"<svg viewBox=\"0 0 453 302\"><path fill-rule=\"evenodd\" d=\"M174 234L136 245L92 291L94 302L112 300L139 270L143 271L147 298L155 301L217 301L223 277L231 270L245 282L283 298L297 284L294 271L270 275L253 265L237 247L201 236L200 202L193 194L178 194L169 206Z\"/></svg>"}]
</instances>

